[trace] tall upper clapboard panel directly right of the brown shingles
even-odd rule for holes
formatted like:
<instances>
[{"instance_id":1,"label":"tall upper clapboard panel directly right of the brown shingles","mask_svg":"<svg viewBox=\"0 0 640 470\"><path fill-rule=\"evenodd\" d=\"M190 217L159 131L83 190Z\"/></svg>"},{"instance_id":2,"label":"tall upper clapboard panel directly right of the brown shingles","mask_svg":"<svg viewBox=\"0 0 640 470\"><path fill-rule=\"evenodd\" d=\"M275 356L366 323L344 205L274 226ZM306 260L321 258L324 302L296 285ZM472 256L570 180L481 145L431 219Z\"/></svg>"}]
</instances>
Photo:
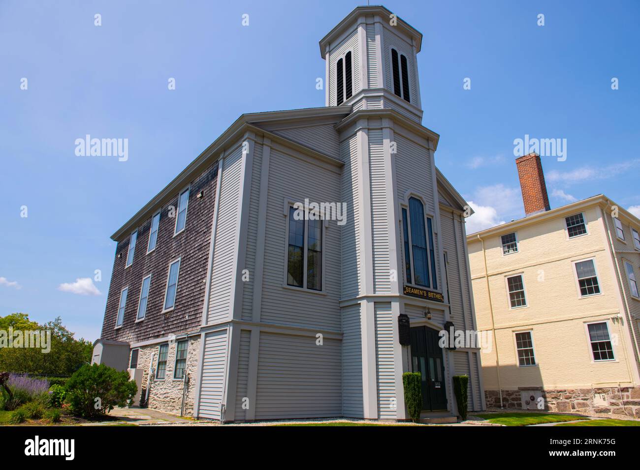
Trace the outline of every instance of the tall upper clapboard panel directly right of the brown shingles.
<instances>
[{"instance_id":1,"label":"tall upper clapboard panel directly right of the brown shingles","mask_svg":"<svg viewBox=\"0 0 640 470\"><path fill-rule=\"evenodd\" d=\"M242 168L242 146L225 158L220 182L218 221L211 272L211 294L207 323L229 317L231 287L234 285L234 253L239 207L239 187Z\"/></svg>"}]
</instances>

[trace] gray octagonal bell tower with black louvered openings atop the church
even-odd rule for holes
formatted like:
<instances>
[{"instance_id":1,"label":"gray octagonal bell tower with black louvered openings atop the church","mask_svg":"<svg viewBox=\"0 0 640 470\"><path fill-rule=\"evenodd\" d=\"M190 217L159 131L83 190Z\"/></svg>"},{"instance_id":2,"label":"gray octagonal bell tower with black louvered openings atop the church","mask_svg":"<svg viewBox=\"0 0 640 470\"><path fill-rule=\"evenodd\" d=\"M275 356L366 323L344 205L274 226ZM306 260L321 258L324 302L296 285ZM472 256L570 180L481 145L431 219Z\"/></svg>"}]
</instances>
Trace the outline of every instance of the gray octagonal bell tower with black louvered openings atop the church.
<instances>
[{"instance_id":1,"label":"gray octagonal bell tower with black louvered openings atop the church","mask_svg":"<svg viewBox=\"0 0 640 470\"><path fill-rule=\"evenodd\" d=\"M320 41L325 105L391 108L420 122L421 44L422 34L384 6L358 6Z\"/></svg>"}]
</instances>

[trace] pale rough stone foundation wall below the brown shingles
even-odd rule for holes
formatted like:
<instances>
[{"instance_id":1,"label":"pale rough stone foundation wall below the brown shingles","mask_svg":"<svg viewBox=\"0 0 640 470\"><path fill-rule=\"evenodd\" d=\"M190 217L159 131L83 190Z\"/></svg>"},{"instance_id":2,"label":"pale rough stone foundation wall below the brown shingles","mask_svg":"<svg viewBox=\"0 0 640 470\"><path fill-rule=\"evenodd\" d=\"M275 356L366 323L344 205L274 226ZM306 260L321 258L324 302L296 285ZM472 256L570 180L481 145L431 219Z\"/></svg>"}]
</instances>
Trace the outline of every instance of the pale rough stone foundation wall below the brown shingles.
<instances>
[{"instance_id":1,"label":"pale rough stone foundation wall below the brown shingles","mask_svg":"<svg viewBox=\"0 0 640 470\"><path fill-rule=\"evenodd\" d=\"M193 403L196 389L196 370L198 367L198 356L200 354L200 336L189 338L187 350L186 373L189 374L189 386L184 403L184 416L193 416ZM178 341L169 344L169 351L166 360L166 373L164 379L151 377L149 386L148 408L163 411L171 414L180 414L182 405L182 390L184 382L182 379L173 379L173 369L175 368L175 350ZM157 367L159 344L140 348L138 352L138 368L143 369L141 402L144 402L147 393L147 377L149 371L149 361L154 355L154 370Z\"/></svg>"}]
</instances>

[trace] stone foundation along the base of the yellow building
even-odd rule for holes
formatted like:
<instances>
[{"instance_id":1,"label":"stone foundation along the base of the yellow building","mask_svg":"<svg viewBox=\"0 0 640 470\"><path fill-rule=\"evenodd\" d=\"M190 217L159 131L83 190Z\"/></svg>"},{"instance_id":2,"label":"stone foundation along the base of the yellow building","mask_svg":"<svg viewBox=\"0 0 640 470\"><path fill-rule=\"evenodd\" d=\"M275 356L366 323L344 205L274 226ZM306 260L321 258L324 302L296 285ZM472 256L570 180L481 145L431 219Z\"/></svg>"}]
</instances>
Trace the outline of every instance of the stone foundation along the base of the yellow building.
<instances>
[{"instance_id":1,"label":"stone foundation along the base of the yellow building","mask_svg":"<svg viewBox=\"0 0 640 470\"><path fill-rule=\"evenodd\" d=\"M525 390L540 391L546 411L580 412L598 416L620 414L640 418L640 387L550 390L530 387L518 390L502 390L502 406L522 409L521 393ZM499 391L486 390L484 395L487 407L500 407ZM596 401L596 395L604 395L604 403Z\"/></svg>"}]
</instances>

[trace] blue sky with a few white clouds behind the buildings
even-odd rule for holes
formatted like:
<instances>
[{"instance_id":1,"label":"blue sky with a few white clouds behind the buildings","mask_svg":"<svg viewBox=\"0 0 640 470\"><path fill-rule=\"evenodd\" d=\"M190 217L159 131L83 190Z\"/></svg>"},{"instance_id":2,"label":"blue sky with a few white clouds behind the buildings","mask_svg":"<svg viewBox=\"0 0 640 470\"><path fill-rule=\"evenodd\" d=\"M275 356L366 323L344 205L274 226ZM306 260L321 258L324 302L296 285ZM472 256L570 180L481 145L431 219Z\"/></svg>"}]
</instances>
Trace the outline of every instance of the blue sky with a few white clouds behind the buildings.
<instances>
[{"instance_id":1,"label":"blue sky with a few white clouds behind the buildings","mask_svg":"<svg viewBox=\"0 0 640 470\"><path fill-rule=\"evenodd\" d=\"M318 41L355 6L0 1L0 315L60 315L95 340L109 235L240 114L324 106ZM385 6L424 34L423 124L440 134L436 164L479 209L473 227L524 215L513 141L525 134L566 139L566 161L543 157L552 207L604 192L640 214L640 3ZM129 159L77 157L86 134L129 139ZM97 269L96 290L76 284Z\"/></svg>"}]
</instances>

